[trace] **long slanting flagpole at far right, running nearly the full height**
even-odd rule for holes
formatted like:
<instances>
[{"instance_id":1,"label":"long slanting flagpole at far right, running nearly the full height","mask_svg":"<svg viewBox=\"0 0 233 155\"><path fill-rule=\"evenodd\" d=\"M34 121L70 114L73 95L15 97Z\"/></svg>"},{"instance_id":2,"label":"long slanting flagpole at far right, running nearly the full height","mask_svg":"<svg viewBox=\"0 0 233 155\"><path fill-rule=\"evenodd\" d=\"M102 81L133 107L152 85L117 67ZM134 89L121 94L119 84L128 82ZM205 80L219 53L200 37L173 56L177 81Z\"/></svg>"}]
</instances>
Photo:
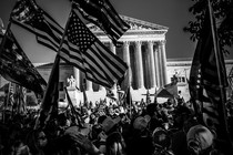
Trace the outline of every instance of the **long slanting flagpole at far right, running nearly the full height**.
<instances>
[{"instance_id":1,"label":"long slanting flagpole at far right, running nearly the full height","mask_svg":"<svg viewBox=\"0 0 233 155\"><path fill-rule=\"evenodd\" d=\"M215 23L213 21L213 12L212 12L212 4L211 1L207 0L207 6L209 6L209 13L210 13L210 20L211 20L211 31L212 31L212 37L213 37L213 46L214 46L214 54L215 54L215 59L216 59L216 71L217 71L217 78L219 78L219 86L220 86L220 97L221 97L221 106L222 106L222 111L223 111L223 122L224 122L224 127L225 127L225 132L226 132L226 138L231 144L231 151L233 152L233 144L232 141L230 138L230 132L229 132L229 126L227 126L227 121L226 121L226 108L225 108L225 101L226 101L226 96L224 93L224 85L222 83L222 76L220 73L220 46L219 46L219 42L216 41L216 27ZM225 64L225 63L224 63Z\"/></svg>"}]
</instances>

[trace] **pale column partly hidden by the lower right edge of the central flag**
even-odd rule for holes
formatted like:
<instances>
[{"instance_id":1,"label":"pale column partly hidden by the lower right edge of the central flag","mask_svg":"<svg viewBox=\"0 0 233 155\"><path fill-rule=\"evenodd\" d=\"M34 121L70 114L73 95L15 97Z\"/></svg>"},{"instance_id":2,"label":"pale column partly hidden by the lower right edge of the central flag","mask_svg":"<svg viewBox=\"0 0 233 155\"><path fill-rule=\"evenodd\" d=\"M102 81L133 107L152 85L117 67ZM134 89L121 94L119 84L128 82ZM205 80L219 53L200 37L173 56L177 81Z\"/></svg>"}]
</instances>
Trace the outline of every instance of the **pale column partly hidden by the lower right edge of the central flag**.
<instances>
[{"instance_id":1,"label":"pale column partly hidden by the lower right edge of the central flag","mask_svg":"<svg viewBox=\"0 0 233 155\"><path fill-rule=\"evenodd\" d=\"M129 79L125 79L125 81L123 82L124 86L128 86L129 84L131 85L131 66L130 66L130 42L123 42L123 61L128 64L129 70L128 75ZM125 89L125 87L123 87Z\"/></svg>"}]
</instances>

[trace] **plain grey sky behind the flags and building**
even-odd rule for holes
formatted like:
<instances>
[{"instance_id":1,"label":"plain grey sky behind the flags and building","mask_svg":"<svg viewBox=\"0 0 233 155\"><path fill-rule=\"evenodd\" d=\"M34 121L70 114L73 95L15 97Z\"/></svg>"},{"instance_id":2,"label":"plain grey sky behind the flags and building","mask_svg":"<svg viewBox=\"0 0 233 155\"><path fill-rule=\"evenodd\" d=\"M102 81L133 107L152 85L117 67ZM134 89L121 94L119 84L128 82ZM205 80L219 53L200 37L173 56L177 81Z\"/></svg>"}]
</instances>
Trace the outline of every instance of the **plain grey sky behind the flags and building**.
<instances>
[{"instance_id":1,"label":"plain grey sky behind the flags and building","mask_svg":"<svg viewBox=\"0 0 233 155\"><path fill-rule=\"evenodd\" d=\"M0 18L6 27L14 2L16 0L0 1ZM69 0L37 0L37 2L62 27L65 25L70 11ZM190 33L183 32L183 28L194 18L188 11L193 4L191 0L110 0L110 2L119 14L168 27L165 45L168 59L193 58L195 43L190 40ZM17 25L11 25L11 29L32 63L54 61L55 53L39 45L33 34Z\"/></svg>"}]
</instances>

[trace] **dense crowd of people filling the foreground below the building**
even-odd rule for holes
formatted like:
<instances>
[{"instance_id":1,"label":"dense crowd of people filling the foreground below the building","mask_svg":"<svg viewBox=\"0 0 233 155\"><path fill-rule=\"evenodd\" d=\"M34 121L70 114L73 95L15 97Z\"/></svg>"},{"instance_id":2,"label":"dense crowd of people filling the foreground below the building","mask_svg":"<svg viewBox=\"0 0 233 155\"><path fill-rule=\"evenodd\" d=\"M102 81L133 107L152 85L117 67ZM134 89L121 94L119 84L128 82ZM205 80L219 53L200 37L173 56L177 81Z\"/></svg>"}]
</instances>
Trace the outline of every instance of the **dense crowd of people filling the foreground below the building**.
<instances>
[{"instance_id":1,"label":"dense crowd of people filling the foreground below the building","mask_svg":"<svg viewBox=\"0 0 233 155\"><path fill-rule=\"evenodd\" d=\"M230 104L231 105L231 104ZM229 108L229 117L232 107ZM201 125L192 103L100 101L59 108L44 128L34 128L39 110L6 113L0 155L226 155L215 134Z\"/></svg>"}]
</instances>

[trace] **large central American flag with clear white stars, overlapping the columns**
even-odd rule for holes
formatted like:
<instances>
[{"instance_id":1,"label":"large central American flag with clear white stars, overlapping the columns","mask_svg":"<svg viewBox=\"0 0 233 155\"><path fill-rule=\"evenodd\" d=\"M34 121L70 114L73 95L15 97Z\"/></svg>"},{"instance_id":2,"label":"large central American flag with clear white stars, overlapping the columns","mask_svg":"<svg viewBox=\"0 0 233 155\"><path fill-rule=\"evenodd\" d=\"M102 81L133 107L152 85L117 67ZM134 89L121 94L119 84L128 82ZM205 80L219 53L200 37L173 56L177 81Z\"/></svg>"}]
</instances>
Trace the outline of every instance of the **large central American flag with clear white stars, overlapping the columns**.
<instances>
[{"instance_id":1,"label":"large central American flag with clear white stars, overlapping the columns","mask_svg":"<svg viewBox=\"0 0 233 155\"><path fill-rule=\"evenodd\" d=\"M73 10L71 11L65 40L79 50L83 66L88 71L85 72L87 79L90 81L105 87L112 87L128 70L126 63L101 43Z\"/></svg>"}]
</instances>

